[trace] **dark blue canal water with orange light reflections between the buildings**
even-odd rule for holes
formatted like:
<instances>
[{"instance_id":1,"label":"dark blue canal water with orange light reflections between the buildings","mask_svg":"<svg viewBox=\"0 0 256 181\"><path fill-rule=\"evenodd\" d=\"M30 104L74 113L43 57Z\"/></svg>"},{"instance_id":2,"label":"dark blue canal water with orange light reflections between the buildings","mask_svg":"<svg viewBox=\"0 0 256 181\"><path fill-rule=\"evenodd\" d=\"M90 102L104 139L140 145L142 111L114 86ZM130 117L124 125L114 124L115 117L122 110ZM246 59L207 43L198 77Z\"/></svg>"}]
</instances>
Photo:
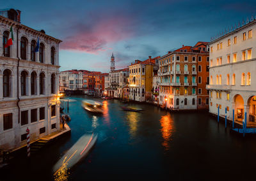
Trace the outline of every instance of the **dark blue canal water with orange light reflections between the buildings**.
<instances>
[{"instance_id":1,"label":"dark blue canal water with orange light reflections between the buildings","mask_svg":"<svg viewBox=\"0 0 256 181\"><path fill-rule=\"evenodd\" d=\"M102 100L102 115L81 107L85 97L70 97L71 136L41 152L20 156L0 171L0 180L248 180L255 177L255 137L225 130L207 113L168 113L148 104ZM87 132L99 136L92 152L73 169L54 178L52 166ZM254 179L253 179L254 180Z\"/></svg>"}]
</instances>

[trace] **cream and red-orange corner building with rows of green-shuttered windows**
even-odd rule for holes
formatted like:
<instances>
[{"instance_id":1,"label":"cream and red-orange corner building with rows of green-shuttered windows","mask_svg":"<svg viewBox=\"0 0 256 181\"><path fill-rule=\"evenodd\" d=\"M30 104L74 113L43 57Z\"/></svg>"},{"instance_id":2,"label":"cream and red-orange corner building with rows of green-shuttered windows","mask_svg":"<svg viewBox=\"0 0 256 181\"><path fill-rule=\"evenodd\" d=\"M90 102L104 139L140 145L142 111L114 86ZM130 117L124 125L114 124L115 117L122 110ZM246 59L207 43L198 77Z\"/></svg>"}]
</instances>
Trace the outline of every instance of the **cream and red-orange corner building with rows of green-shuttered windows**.
<instances>
[{"instance_id":1,"label":"cream and red-orange corner building with rows of green-shuttered windows","mask_svg":"<svg viewBox=\"0 0 256 181\"><path fill-rule=\"evenodd\" d=\"M159 102L168 109L208 109L209 80L207 42L182 46L159 58Z\"/></svg>"}]
</instances>

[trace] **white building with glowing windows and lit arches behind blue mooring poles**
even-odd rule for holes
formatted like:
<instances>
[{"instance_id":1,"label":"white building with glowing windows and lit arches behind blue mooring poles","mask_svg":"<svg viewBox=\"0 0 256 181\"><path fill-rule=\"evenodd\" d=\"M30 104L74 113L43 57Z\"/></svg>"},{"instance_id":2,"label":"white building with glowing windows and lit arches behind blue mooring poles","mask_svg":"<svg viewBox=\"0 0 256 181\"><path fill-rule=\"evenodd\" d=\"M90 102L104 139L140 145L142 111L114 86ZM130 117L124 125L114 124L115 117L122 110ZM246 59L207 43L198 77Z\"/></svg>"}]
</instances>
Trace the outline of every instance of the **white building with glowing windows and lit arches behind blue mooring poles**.
<instances>
[{"instance_id":1,"label":"white building with glowing windows and lit arches behind blue mooring poles","mask_svg":"<svg viewBox=\"0 0 256 181\"><path fill-rule=\"evenodd\" d=\"M209 43L209 111L237 122L256 114L256 20L252 19Z\"/></svg>"}]
</instances>

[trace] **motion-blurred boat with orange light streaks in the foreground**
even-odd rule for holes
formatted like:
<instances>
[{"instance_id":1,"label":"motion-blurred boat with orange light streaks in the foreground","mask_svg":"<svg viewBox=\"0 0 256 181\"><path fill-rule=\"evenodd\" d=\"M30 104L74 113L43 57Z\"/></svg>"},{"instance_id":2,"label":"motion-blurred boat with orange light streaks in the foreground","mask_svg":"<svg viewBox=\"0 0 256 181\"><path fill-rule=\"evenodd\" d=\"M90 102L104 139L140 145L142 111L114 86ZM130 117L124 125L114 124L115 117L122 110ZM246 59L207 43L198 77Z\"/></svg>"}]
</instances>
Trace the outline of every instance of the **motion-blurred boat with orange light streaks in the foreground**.
<instances>
[{"instance_id":1,"label":"motion-blurred boat with orange light streaks in the foreground","mask_svg":"<svg viewBox=\"0 0 256 181\"><path fill-rule=\"evenodd\" d=\"M97 134L84 134L53 166L54 176L62 175L88 155L97 141Z\"/></svg>"}]
</instances>

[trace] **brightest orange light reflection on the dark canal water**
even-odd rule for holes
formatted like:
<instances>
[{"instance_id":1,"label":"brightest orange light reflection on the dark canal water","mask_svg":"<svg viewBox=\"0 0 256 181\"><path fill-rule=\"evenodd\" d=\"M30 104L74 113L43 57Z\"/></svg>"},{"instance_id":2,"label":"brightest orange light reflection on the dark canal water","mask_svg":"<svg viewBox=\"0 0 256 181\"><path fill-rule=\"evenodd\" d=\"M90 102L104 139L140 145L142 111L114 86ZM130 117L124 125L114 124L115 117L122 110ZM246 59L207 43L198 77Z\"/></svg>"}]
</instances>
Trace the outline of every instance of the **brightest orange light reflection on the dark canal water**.
<instances>
[{"instance_id":1,"label":"brightest orange light reflection on the dark canal water","mask_svg":"<svg viewBox=\"0 0 256 181\"><path fill-rule=\"evenodd\" d=\"M161 117L160 120L161 123L161 133L162 137L164 139L162 145L164 146L165 150L169 150L170 148L170 141L172 139L172 134L173 134L173 120L170 116L170 114L166 114L165 116Z\"/></svg>"}]
</instances>

